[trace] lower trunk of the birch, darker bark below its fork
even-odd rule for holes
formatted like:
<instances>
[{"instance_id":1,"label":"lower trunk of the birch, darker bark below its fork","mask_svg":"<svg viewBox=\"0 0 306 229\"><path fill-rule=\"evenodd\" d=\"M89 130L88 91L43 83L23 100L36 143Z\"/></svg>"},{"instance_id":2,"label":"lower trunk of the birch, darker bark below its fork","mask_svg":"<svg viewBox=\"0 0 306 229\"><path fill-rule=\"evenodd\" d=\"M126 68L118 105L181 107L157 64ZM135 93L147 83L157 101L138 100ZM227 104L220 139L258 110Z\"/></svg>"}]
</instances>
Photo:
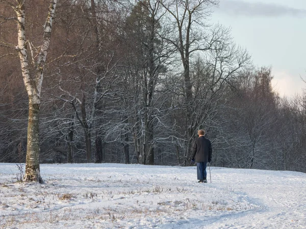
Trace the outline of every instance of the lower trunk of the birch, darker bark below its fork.
<instances>
[{"instance_id":1,"label":"lower trunk of the birch, darker bark below its fork","mask_svg":"<svg viewBox=\"0 0 306 229\"><path fill-rule=\"evenodd\" d=\"M39 104L29 101L27 159L25 161L25 181L43 183L39 168Z\"/></svg>"}]
</instances>

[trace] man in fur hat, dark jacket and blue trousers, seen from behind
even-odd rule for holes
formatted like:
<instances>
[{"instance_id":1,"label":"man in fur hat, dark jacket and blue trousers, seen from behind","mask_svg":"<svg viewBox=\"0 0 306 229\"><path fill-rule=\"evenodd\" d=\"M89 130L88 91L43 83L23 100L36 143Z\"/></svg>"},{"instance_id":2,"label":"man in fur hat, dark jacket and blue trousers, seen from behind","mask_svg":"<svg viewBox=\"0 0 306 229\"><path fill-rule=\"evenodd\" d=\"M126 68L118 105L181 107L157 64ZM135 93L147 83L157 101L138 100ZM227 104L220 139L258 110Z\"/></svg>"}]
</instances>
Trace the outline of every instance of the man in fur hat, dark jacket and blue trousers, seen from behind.
<instances>
[{"instance_id":1,"label":"man in fur hat, dark jacket and blue trousers, seen from behind","mask_svg":"<svg viewBox=\"0 0 306 229\"><path fill-rule=\"evenodd\" d=\"M212 144L209 139L205 138L205 131L198 130L199 137L192 144L191 161L196 162L198 183L207 183L207 162L212 160Z\"/></svg>"}]
</instances>

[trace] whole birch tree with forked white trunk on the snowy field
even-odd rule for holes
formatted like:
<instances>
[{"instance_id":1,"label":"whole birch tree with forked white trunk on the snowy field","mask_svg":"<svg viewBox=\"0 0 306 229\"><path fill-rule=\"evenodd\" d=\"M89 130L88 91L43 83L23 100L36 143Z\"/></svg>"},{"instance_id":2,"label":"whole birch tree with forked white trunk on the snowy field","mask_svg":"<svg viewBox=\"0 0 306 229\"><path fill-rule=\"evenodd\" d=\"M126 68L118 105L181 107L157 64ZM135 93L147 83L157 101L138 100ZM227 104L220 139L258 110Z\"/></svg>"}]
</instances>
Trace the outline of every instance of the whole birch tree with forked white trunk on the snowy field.
<instances>
[{"instance_id":1,"label":"whole birch tree with forked white trunk on the snowy field","mask_svg":"<svg viewBox=\"0 0 306 229\"><path fill-rule=\"evenodd\" d=\"M41 46L37 53L34 53L32 44L26 37L25 31L25 0L17 0L14 4L12 1L2 0L8 4L15 12L14 20L17 22L18 44L13 47L4 41L0 45L15 48L18 52L22 79L29 97L29 119L28 119L28 140L27 140L27 158L25 163L25 181L37 181L42 183L39 166L39 109L41 101L41 88L43 81L43 71L46 63L47 51L50 45L52 25L55 16L57 0L51 0L47 18L44 24L43 38ZM28 54L30 47L31 55ZM37 56L37 58L36 58ZM30 57L32 60L30 60ZM31 71L31 65L34 71Z\"/></svg>"}]
</instances>

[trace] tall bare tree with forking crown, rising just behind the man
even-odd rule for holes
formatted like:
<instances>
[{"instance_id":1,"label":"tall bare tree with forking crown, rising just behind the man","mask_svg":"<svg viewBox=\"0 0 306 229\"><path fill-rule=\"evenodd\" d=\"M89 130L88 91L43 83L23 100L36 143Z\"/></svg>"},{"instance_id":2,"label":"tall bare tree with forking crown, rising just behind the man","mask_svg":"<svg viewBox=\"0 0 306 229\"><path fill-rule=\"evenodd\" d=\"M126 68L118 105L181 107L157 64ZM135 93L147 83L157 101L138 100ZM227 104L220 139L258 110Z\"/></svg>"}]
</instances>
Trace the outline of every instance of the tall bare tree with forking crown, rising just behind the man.
<instances>
[{"instance_id":1,"label":"tall bare tree with forking crown, rising just behind the man","mask_svg":"<svg viewBox=\"0 0 306 229\"><path fill-rule=\"evenodd\" d=\"M217 6L218 1L175 0L161 2L161 4L168 12L170 21L168 36L164 37L164 39L171 43L177 53L179 53L184 69L184 94L186 99L184 164L187 165L187 155L190 151L195 131L190 123L194 105L190 77L191 55L197 51L210 50L216 42L223 39L223 33L226 33L226 31L224 32L223 28L217 28L217 30L211 32L206 24L206 19L210 16L212 7Z\"/></svg>"}]
</instances>

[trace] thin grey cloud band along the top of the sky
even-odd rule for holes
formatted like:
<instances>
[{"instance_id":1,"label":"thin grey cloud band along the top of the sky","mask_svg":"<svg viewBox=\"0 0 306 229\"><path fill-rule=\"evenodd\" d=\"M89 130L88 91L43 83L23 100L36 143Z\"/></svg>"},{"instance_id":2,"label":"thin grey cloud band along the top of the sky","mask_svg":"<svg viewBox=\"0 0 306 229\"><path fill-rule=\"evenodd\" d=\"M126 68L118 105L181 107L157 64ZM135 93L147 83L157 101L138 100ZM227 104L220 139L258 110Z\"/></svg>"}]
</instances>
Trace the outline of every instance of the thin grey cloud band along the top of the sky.
<instances>
[{"instance_id":1,"label":"thin grey cloud band along the top of the sky","mask_svg":"<svg viewBox=\"0 0 306 229\"><path fill-rule=\"evenodd\" d=\"M240 0L221 0L219 9L216 10L231 15L243 16L306 16L306 10L295 9L287 6L262 3L262 2L245 2Z\"/></svg>"}]
</instances>

